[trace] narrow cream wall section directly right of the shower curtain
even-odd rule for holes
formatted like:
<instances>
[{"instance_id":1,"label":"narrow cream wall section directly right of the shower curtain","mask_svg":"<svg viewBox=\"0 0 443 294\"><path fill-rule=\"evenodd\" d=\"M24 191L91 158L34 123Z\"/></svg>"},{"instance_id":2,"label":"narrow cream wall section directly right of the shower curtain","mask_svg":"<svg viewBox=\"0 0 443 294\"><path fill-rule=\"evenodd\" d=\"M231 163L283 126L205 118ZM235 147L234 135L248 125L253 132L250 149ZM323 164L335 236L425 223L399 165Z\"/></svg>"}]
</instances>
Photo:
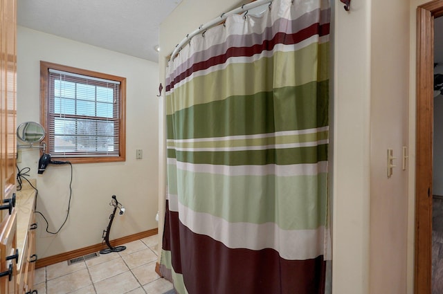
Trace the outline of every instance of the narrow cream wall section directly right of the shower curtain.
<instances>
[{"instance_id":1,"label":"narrow cream wall section directly right of the shower curtain","mask_svg":"<svg viewBox=\"0 0 443 294\"><path fill-rule=\"evenodd\" d=\"M369 293L370 1L334 13L332 289ZM389 293L389 292L386 292Z\"/></svg>"}]
</instances>

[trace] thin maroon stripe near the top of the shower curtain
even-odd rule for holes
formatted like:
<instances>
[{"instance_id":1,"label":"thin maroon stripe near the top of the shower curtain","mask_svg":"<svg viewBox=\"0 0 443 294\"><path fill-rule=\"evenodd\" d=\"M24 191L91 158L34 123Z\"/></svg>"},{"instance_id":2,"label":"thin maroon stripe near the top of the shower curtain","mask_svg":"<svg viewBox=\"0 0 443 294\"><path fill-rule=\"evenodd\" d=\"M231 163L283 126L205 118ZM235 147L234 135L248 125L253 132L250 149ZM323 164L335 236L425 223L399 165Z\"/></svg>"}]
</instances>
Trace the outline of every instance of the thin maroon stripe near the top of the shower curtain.
<instances>
[{"instance_id":1,"label":"thin maroon stripe near the top of the shower curtain","mask_svg":"<svg viewBox=\"0 0 443 294\"><path fill-rule=\"evenodd\" d=\"M327 24L312 24L311 26L308 26L307 28L303 28L302 30L299 30L297 33L293 34L287 34L287 33L277 33L274 35L274 37L270 40L264 40L262 44L255 44L250 47L230 47L226 50L226 53L223 55L218 55L211 57L210 59L204 61L204 62L197 62L196 64L193 64L190 68L188 68L186 71L183 71L180 75L177 75L177 77L174 77L174 80L166 86L166 91L170 91L172 88L174 88L174 84L177 84L181 80L186 79L186 77L189 77L192 75L192 73L195 73L197 71L203 71L205 69L210 68L211 66L215 66L217 64L224 64L226 60L230 57L251 57L255 54L262 53L262 51L270 51L273 50L274 46L277 44L284 44L284 45L293 45L302 42L305 39L308 39L309 37L312 37L314 35L325 36L329 34L329 23Z\"/></svg>"}]
</instances>

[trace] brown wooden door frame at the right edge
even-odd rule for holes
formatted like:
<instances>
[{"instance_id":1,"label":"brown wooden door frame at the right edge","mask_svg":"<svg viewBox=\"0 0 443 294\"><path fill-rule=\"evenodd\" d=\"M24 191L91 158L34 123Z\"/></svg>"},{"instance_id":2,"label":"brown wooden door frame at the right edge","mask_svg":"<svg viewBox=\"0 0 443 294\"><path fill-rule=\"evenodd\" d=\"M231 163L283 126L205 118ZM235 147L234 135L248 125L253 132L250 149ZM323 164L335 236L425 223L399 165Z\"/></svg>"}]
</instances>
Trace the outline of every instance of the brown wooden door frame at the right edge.
<instances>
[{"instance_id":1,"label":"brown wooden door frame at the right edge","mask_svg":"<svg viewBox=\"0 0 443 294\"><path fill-rule=\"evenodd\" d=\"M434 18L443 0L417 8L417 89L415 161L415 294L431 294Z\"/></svg>"}]
</instances>

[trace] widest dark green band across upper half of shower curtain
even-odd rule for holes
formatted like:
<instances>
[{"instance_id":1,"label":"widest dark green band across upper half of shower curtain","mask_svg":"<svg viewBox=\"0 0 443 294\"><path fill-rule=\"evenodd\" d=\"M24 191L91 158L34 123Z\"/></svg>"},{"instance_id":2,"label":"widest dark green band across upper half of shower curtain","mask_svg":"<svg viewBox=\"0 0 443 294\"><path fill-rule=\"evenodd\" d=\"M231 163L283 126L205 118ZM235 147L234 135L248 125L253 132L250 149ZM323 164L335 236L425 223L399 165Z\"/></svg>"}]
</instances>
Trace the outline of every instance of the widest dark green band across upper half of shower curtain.
<instances>
[{"instance_id":1,"label":"widest dark green band across upper half of shower curtain","mask_svg":"<svg viewBox=\"0 0 443 294\"><path fill-rule=\"evenodd\" d=\"M166 117L168 139L267 134L324 127L328 125L328 95L329 82L323 81L197 104ZM243 121L254 123L244 124Z\"/></svg>"}]
</instances>

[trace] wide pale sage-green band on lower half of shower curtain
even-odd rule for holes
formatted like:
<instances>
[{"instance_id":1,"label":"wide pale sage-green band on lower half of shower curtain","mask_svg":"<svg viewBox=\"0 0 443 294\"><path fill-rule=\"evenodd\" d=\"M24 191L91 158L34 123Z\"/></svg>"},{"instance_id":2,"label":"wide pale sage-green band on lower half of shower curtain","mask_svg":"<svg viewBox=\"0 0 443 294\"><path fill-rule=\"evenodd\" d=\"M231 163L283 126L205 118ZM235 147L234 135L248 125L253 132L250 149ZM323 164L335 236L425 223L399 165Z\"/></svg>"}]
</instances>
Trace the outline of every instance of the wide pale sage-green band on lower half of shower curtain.
<instances>
[{"instance_id":1,"label":"wide pale sage-green band on lower half of shower curtain","mask_svg":"<svg viewBox=\"0 0 443 294\"><path fill-rule=\"evenodd\" d=\"M325 224L326 199L311 195L325 197L327 174L224 176L178 170L177 178L179 189L176 183L168 188L170 194L180 191L181 205L230 223L273 222L283 230L312 230Z\"/></svg>"}]
</instances>

